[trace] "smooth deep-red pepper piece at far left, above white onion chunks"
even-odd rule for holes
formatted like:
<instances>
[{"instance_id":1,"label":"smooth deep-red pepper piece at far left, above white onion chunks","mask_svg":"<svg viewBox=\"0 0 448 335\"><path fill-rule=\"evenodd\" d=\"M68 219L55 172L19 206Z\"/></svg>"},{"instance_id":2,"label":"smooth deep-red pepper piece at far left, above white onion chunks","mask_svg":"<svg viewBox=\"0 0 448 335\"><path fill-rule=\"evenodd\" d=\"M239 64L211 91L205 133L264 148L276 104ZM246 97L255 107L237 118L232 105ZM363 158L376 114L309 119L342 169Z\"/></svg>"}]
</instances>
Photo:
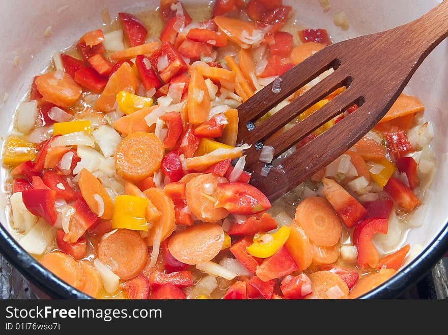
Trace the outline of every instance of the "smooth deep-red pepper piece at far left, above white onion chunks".
<instances>
[{"instance_id":1,"label":"smooth deep-red pepper piece at far left, above white onion chunks","mask_svg":"<svg viewBox=\"0 0 448 335\"><path fill-rule=\"evenodd\" d=\"M22 192L22 200L31 214L44 218L54 225L58 219L58 213L54 208L56 192L49 189L26 190Z\"/></svg>"}]
</instances>

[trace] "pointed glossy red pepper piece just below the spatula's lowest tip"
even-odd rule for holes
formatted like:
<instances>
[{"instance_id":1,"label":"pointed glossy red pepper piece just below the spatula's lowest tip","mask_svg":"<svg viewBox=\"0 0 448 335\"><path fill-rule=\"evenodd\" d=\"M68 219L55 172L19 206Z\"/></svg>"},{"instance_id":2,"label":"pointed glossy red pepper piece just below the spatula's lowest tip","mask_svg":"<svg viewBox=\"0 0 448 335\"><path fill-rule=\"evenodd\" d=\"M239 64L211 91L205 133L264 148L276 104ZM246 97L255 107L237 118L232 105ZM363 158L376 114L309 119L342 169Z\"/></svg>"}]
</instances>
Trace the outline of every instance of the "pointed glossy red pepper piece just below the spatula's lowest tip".
<instances>
[{"instance_id":1,"label":"pointed glossy red pepper piece just below the spatula's lowest tip","mask_svg":"<svg viewBox=\"0 0 448 335\"><path fill-rule=\"evenodd\" d=\"M232 214L251 215L271 208L268 198L257 188L241 183L220 183L215 207L223 207Z\"/></svg>"}]
</instances>

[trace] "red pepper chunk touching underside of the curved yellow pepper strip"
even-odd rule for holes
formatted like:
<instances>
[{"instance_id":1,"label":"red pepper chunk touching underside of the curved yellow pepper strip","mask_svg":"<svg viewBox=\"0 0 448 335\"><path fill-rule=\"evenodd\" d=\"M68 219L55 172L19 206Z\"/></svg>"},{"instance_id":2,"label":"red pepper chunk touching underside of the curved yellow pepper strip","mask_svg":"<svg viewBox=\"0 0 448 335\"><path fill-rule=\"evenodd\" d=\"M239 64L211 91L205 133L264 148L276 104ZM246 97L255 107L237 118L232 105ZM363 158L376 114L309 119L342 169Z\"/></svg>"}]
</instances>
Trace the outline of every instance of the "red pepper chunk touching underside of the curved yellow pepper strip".
<instances>
[{"instance_id":1,"label":"red pepper chunk touching underside of the curved yellow pepper strip","mask_svg":"<svg viewBox=\"0 0 448 335\"><path fill-rule=\"evenodd\" d=\"M289 254L288 250L283 246L275 254L264 259L257 267L255 273L263 280L268 281L280 278L297 270L297 265Z\"/></svg>"}]
</instances>

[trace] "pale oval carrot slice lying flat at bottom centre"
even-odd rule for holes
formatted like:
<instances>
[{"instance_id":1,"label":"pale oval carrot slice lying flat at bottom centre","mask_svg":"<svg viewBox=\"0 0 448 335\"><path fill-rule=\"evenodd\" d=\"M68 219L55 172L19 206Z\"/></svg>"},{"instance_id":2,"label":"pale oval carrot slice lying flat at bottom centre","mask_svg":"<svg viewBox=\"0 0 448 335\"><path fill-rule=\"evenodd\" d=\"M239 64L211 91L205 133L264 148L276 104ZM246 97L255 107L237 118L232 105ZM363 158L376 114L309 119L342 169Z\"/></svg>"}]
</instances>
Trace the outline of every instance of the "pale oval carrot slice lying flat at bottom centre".
<instances>
[{"instance_id":1,"label":"pale oval carrot slice lying flat at bottom centre","mask_svg":"<svg viewBox=\"0 0 448 335\"><path fill-rule=\"evenodd\" d=\"M194 265L214 259L223 243L221 226L200 223L174 234L168 241L168 249L176 260Z\"/></svg>"}]
</instances>

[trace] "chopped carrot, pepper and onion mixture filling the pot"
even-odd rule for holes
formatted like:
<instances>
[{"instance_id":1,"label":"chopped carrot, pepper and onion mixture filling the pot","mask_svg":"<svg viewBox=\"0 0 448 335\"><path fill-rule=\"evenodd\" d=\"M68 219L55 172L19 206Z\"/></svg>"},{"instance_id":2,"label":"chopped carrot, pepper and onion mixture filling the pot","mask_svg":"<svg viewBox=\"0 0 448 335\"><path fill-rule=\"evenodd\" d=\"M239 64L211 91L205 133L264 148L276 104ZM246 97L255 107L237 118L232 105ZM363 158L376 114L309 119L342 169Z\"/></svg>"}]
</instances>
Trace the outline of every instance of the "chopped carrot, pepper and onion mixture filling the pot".
<instances>
[{"instance_id":1,"label":"chopped carrot, pepper and onion mixture filling the pot","mask_svg":"<svg viewBox=\"0 0 448 335\"><path fill-rule=\"evenodd\" d=\"M271 203L244 171L236 108L331 44L328 33L291 28L282 0L216 0L204 21L177 0L151 13L148 24L119 13L34 77L3 151L20 245L95 298L347 299L393 276L412 257L403 241L423 223L434 171L422 102L400 95L373 131ZM295 149L275 158L264 147L260 160Z\"/></svg>"}]
</instances>

